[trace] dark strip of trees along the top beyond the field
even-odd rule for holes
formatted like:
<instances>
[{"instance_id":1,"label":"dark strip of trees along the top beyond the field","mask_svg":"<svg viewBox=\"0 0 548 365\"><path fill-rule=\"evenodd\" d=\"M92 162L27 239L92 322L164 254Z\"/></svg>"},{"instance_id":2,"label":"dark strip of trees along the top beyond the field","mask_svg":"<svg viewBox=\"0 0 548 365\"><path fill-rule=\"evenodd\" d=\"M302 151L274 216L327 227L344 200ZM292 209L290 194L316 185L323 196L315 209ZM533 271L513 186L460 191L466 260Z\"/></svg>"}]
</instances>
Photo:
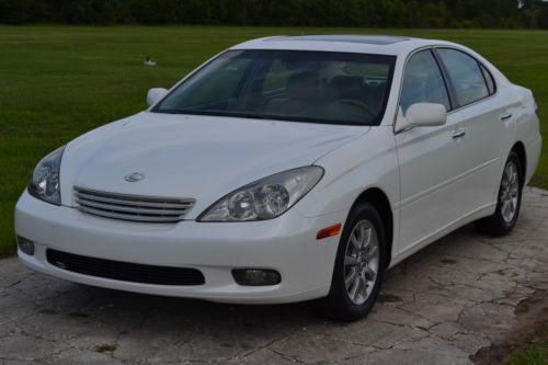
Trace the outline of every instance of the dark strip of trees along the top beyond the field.
<instances>
[{"instance_id":1,"label":"dark strip of trees along the top beyond the field","mask_svg":"<svg viewBox=\"0 0 548 365\"><path fill-rule=\"evenodd\" d=\"M523 0L522 0L523 1ZM548 28L527 0L0 0L0 23Z\"/></svg>"}]
</instances>

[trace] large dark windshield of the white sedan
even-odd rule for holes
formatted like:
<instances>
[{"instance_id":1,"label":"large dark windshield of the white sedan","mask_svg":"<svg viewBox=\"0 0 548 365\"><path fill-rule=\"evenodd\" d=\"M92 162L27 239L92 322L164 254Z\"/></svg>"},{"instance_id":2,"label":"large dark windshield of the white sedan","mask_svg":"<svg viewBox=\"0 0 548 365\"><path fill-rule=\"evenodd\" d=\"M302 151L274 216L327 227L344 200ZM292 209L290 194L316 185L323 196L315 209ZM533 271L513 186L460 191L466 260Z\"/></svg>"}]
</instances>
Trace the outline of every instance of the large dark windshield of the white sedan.
<instances>
[{"instance_id":1,"label":"large dark windshield of the white sedan","mask_svg":"<svg viewBox=\"0 0 548 365\"><path fill-rule=\"evenodd\" d=\"M350 53L229 50L152 112L378 125L395 60Z\"/></svg>"}]
</instances>

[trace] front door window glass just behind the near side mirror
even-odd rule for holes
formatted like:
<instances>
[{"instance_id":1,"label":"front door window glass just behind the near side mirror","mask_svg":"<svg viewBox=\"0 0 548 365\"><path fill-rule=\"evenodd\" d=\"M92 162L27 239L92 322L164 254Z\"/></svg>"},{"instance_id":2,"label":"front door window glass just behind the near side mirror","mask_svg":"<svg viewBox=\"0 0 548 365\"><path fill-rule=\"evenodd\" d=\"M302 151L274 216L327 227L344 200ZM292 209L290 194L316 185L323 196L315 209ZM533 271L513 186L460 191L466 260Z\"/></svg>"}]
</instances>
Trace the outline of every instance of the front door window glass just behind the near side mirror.
<instances>
[{"instance_id":1,"label":"front door window glass just behind the near side mirror","mask_svg":"<svg viewBox=\"0 0 548 365\"><path fill-rule=\"evenodd\" d=\"M447 88L431 50L411 56L406 68L400 100L403 113L415 103L436 103L450 110Z\"/></svg>"}]
</instances>

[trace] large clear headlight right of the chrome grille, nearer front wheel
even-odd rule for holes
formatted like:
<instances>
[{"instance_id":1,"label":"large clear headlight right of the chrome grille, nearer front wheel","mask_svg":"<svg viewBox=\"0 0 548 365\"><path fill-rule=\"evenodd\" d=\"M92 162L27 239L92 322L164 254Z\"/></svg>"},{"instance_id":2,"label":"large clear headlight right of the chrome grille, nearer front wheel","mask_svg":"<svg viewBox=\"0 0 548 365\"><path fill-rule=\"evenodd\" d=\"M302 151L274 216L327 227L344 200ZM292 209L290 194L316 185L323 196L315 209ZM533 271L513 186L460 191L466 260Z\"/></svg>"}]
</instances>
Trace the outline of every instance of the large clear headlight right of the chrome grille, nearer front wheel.
<instances>
[{"instance_id":1,"label":"large clear headlight right of the chrome grille, nearer front wheel","mask_svg":"<svg viewBox=\"0 0 548 365\"><path fill-rule=\"evenodd\" d=\"M323 175L309 166L271 175L246 185L207 208L198 221L265 220L281 216L306 195Z\"/></svg>"}]
</instances>

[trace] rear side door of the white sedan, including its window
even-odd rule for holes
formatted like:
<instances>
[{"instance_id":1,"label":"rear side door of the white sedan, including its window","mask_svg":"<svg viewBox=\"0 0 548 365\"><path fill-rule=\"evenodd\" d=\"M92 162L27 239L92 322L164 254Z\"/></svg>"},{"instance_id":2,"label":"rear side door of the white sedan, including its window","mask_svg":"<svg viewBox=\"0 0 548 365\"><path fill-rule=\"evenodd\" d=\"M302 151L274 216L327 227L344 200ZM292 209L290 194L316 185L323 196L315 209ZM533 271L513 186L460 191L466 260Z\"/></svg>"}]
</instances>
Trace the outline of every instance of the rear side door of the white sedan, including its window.
<instances>
[{"instance_id":1,"label":"rear side door of the white sedan, including its window","mask_svg":"<svg viewBox=\"0 0 548 365\"><path fill-rule=\"evenodd\" d=\"M496 201L509 148L513 139L515 105L499 98L495 81L481 62L455 48L436 48L453 88L455 103L463 111L467 148L463 158L472 163L463 181L461 198L468 212L479 212ZM496 93L496 94L495 94Z\"/></svg>"}]
</instances>

